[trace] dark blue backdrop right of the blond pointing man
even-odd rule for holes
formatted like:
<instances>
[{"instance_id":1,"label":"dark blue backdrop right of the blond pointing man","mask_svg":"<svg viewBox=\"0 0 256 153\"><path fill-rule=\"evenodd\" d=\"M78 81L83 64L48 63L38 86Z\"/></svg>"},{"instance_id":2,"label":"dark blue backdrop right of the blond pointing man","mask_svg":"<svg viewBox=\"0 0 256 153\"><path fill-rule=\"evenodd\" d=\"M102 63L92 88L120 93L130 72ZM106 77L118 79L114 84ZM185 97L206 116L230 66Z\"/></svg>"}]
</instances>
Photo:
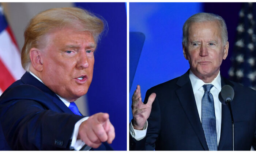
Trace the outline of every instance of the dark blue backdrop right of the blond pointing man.
<instances>
[{"instance_id":1,"label":"dark blue backdrop right of the blond pointing man","mask_svg":"<svg viewBox=\"0 0 256 153\"><path fill-rule=\"evenodd\" d=\"M114 150L127 150L127 15L125 3L75 3L102 16L108 33L98 43L93 81L87 93L89 114L109 113Z\"/></svg>"}]
</instances>

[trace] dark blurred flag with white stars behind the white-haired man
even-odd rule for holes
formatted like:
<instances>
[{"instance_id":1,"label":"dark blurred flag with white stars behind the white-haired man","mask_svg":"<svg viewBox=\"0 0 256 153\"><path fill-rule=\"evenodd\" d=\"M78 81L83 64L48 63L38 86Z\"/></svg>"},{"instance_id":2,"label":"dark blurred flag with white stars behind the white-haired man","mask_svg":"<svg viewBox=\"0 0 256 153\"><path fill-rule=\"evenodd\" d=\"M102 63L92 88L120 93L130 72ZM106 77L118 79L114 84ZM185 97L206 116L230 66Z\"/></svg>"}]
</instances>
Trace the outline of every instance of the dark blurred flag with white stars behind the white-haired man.
<instances>
[{"instance_id":1,"label":"dark blurred flag with white stars behind the white-haired man","mask_svg":"<svg viewBox=\"0 0 256 153\"><path fill-rule=\"evenodd\" d=\"M253 3L244 3L239 12L237 37L229 69L230 79L256 89L256 26Z\"/></svg>"}]
</instances>

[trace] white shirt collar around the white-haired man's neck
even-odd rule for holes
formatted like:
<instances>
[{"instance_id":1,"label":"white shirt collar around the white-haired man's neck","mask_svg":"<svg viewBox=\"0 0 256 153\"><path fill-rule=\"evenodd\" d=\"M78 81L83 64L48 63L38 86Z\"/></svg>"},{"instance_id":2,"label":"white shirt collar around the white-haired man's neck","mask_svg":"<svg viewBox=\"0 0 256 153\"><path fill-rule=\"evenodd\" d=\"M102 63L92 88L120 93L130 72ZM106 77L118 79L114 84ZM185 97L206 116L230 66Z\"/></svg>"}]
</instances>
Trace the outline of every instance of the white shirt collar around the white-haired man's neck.
<instances>
[{"instance_id":1,"label":"white shirt collar around the white-haired man's neck","mask_svg":"<svg viewBox=\"0 0 256 153\"><path fill-rule=\"evenodd\" d=\"M216 76L216 78L214 78L214 80L211 83L204 83L195 74L193 74L193 72L191 70L189 70L189 79L191 81L191 85L192 85L194 94L197 90L199 90L205 84L212 84L212 85L214 85L214 87L217 90L221 91L221 74L220 74L220 71L219 71L218 75Z\"/></svg>"}]
</instances>

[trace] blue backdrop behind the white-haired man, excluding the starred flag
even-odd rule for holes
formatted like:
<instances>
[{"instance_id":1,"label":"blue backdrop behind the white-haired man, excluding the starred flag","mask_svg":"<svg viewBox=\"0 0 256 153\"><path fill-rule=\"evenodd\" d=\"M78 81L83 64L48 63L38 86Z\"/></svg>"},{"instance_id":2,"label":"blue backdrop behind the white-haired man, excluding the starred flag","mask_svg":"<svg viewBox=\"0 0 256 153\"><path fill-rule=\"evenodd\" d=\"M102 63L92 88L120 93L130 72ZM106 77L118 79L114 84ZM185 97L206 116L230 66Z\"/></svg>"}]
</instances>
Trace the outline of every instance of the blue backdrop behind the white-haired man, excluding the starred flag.
<instances>
[{"instance_id":1,"label":"blue backdrop behind the white-haired man, excluding the starred flag","mask_svg":"<svg viewBox=\"0 0 256 153\"><path fill-rule=\"evenodd\" d=\"M229 36L229 54L221 65L221 75L229 78L238 14L242 3L129 3L129 31L146 36L138 67L129 91L129 120L132 119L131 97L141 85L146 91L159 83L184 74L189 63L182 53L182 26L195 13L210 12L223 17Z\"/></svg>"}]
</instances>

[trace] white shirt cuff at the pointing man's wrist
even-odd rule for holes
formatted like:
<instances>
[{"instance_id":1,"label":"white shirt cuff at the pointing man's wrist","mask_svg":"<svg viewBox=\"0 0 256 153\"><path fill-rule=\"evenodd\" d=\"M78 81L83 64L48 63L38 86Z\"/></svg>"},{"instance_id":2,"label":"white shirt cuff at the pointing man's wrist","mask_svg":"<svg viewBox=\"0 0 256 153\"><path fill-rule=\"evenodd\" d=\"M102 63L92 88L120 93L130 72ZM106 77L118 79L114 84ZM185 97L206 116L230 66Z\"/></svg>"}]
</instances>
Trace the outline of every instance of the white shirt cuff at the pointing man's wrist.
<instances>
[{"instance_id":1,"label":"white shirt cuff at the pointing man's wrist","mask_svg":"<svg viewBox=\"0 0 256 153\"><path fill-rule=\"evenodd\" d=\"M82 119L80 119L79 121L77 121L75 123L75 127L74 127L74 131L73 131L73 136L72 136L72 140L71 140L71 145L70 145L70 149L74 149L74 150L80 150L85 143L82 140L77 140L77 136L78 136L78 131L79 131L79 126L81 125L81 123L85 120L87 120L89 117L84 117ZM89 148L90 150L91 148Z\"/></svg>"}]
</instances>

